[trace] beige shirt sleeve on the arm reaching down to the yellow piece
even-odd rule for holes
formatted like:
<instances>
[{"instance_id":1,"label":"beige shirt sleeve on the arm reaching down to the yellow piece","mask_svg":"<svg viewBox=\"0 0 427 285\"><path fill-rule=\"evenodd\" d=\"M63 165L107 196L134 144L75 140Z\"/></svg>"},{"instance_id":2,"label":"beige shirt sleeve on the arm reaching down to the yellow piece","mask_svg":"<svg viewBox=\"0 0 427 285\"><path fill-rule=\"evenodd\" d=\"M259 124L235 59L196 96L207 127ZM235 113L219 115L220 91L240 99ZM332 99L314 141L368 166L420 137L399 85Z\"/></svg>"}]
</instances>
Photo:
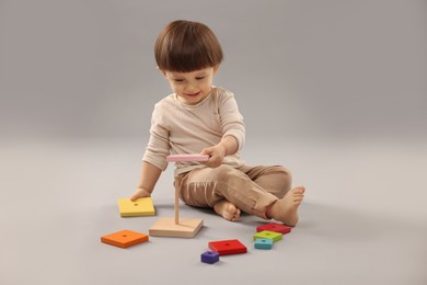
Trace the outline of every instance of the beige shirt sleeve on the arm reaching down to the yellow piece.
<instances>
[{"instance_id":1,"label":"beige shirt sleeve on the arm reaching down to the yellow piece","mask_svg":"<svg viewBox=\"0 0 427 285\"><path fill-rule=\"evenodd\" d=\"M151 116L150 139L142 160L163 171L168 168L166 156L170 155L169 133L161 105L155 104Z\"/></svg>"}]
</instances>

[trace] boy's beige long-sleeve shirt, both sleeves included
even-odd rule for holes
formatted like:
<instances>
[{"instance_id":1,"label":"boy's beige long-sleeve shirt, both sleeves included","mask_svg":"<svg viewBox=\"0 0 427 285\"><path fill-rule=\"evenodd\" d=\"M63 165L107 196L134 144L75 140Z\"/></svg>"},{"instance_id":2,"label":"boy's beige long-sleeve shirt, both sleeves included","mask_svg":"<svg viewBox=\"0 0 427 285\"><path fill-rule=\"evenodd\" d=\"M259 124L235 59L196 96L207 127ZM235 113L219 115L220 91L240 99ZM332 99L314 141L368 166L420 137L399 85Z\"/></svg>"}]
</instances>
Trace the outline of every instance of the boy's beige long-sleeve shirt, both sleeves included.
<instances>
[{"instance_id":1,"label":"boy's beige long-sleeve shirt, both sleeves included","mask_svg":"<svg viewBox=\"0 0 427 285\"><path fill-rule=\"evenodd\" d=\"M165 170L166 156L199 153L226 136L233 136L239 149L242 148L245 128L233 93L214 87L210 94L196 105L184 104L176 94L171 94L154 106L150 140L142 160ZM244 161L238 151L226 157L223 163L239 168ZM204 167L198 162L176 162L174 172L178 175Z\"/></svg>"}]
</instances>

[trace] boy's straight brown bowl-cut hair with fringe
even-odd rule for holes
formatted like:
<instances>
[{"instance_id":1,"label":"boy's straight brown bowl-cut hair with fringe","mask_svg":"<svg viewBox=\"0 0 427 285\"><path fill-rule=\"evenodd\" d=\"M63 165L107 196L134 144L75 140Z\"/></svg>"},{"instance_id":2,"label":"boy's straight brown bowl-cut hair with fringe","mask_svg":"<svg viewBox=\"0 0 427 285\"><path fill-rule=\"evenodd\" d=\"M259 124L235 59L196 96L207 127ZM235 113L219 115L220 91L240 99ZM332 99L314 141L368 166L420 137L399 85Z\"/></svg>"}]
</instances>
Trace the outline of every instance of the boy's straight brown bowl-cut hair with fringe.
<instances>
[{"instance_id":1,"label":"boy's straight brown bowl-cut hair with fringe","mask_svg":"<svg viewBox=\"0 0 427 285\"><path fill-rule=\"evenodd\" d=\"M203 23L174 21L160 33L155 61L164 71L191 72L222 61L222 48L214 32Z\"/></svg>"}]
</instances>

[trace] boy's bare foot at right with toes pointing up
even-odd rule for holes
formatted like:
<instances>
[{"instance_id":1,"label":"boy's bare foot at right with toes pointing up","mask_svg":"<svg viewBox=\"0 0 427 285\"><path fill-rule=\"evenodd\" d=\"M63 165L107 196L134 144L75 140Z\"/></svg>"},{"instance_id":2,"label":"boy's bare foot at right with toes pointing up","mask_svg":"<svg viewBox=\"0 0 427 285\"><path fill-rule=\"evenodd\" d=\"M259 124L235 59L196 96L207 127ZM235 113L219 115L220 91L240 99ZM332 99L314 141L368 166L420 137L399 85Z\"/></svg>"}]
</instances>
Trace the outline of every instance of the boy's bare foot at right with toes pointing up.
<instances>
[{"instance_id":1,"label":"boy's bare foot at right with toes pointing up","mask_svg":"<svg viewBox=\"0 0 427 285\"><path fill-rule=\"evenodd\" d=\"M305 189L298 186L291 189L286 195L267 208L267 216L293 227L298 223L298 207L304 197Z\"/></svg>"}]
</instances>

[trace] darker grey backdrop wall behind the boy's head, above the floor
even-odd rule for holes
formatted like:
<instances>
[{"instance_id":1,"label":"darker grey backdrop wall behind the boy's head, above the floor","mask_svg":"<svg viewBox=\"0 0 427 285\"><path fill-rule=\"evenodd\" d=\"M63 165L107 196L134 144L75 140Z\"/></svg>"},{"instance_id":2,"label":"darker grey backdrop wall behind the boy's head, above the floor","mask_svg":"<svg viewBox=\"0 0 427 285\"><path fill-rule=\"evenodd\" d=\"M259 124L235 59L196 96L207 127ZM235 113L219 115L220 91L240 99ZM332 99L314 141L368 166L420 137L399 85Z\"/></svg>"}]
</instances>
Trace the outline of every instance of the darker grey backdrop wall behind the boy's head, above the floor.
<instances>
[{"instance_id":1,"label":"darker grey backdrop wall behind the boy's head, above the floor","mask_svg":"<svg viewBox=\"0 0 427 285\"><path fill-rule=\"evenodd\" d=\"M153 42L175 19L217 33L216 83L250 137L417 135L427 121L426 1L0 4L2 136L145 135L170 92Z\"/></svg>"}]
</instances>

